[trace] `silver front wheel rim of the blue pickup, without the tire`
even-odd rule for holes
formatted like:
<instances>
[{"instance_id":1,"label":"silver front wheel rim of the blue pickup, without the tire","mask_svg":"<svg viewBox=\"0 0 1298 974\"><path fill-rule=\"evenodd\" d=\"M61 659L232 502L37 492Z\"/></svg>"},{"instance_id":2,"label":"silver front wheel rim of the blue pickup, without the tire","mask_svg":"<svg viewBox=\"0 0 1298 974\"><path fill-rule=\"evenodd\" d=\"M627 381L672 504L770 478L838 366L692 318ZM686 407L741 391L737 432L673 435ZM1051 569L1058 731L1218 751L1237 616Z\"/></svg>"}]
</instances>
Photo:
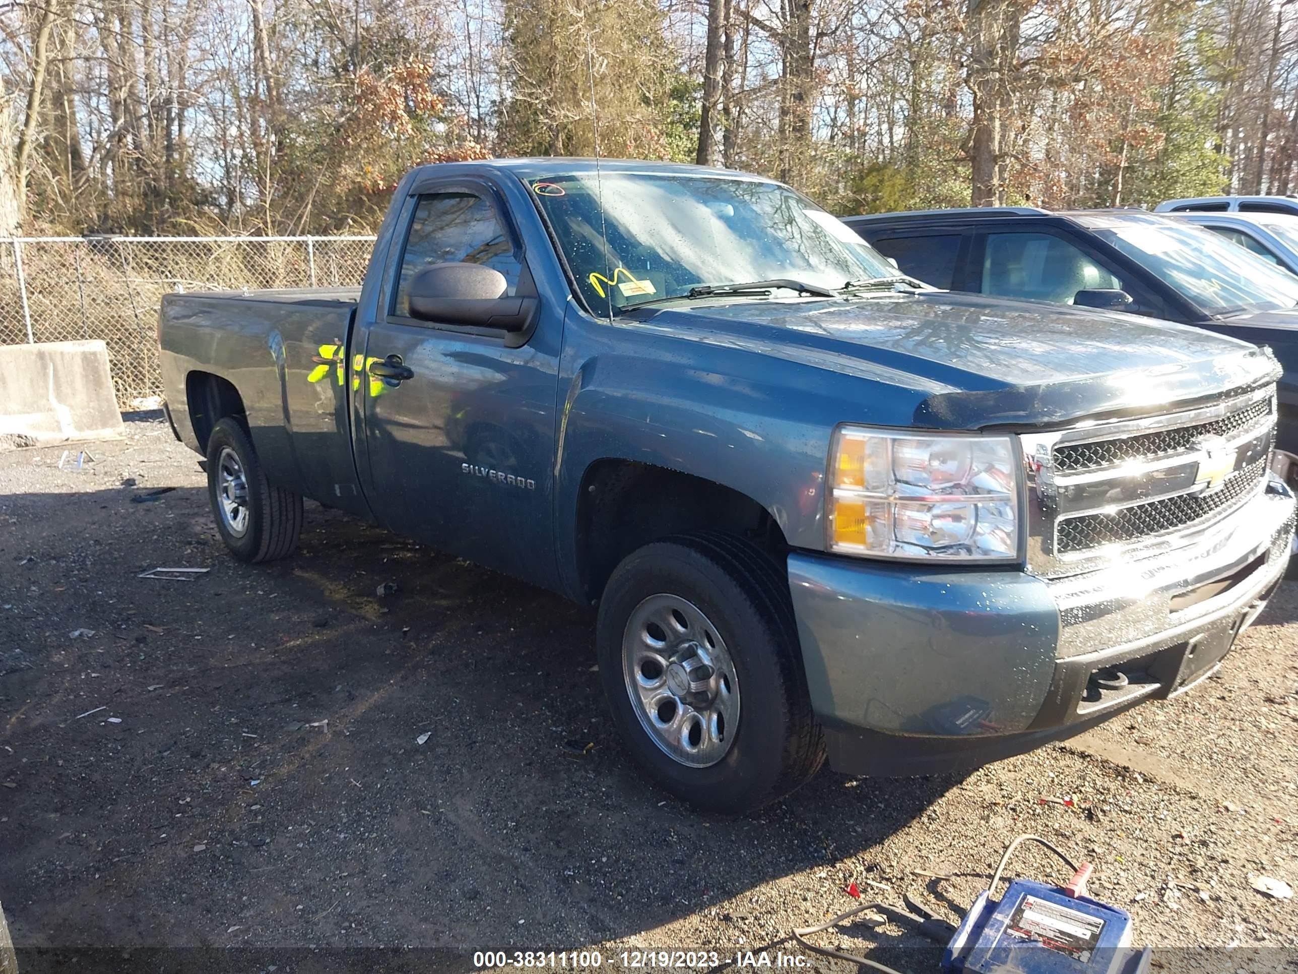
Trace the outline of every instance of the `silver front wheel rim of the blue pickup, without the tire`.
<instances>
[{"instance_id":1,"label":"silver front wheel rim of the blue pickup, without the tire","mask_svg":"<svg viewBox=\"0 0 1298 974\"><path fill-rule=\"evenodd\" d=\"M687 768L709 768L739 732L735 661L711 621L676 595L650 595L622 635L622 675L649 739Z\"/></svg>"}]
</instances>

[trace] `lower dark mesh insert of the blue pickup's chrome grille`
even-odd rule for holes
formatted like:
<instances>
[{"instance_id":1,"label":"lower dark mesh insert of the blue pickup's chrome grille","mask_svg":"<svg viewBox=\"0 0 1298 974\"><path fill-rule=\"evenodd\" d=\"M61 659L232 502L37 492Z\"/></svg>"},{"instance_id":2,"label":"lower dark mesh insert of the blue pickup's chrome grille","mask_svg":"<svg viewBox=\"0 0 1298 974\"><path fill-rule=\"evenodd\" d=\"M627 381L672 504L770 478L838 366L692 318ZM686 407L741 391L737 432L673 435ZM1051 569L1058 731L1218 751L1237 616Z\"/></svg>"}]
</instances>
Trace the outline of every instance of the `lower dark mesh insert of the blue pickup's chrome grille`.
<instances>
[{"instance_id":1,"label":"lower dark mesh insert of the blue pickup's chrome grille","mask_svg":"<svg viewBox=\"0 0 1298 974\"><path fill-rule=\"evenodd\" d=\"M1055 531L1058 551L1060 555L1072 555L1102 544L1131 544L1168 531L1193 527L1251 496L1266 475L1267 461L1263 458L1231 474L1216 493L1199 496L1179 493L1175 497L1151 500L1112 513L1084 514L1060 521Z\"/></svg>"}]
</instances>

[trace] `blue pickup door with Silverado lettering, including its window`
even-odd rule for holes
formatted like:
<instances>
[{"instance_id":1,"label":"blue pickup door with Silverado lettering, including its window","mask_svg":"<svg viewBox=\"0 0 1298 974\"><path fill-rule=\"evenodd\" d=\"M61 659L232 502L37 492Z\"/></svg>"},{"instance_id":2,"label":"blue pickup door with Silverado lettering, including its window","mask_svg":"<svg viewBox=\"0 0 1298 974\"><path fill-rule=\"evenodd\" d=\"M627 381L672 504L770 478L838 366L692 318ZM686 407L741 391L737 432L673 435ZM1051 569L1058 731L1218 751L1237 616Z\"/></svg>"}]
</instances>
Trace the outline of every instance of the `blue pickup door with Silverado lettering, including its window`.
<instances>
[{"instance_id":1,"label":"blue pickup door with Silverado lettering, including its window","mask_svg":"<svg viewBox=\"0 0 1298 974\"><path fill-rule=\"evenodd\" d=\"M397 534L553 586L562 309L543 304L526 334L413 318L410 279L445 261L498 270L508 295L536 293L520 238L489 184L417 188L398 222L378 321L353 361L353 395L365 397L366 492Z\"/></svg>"}]
</instances>

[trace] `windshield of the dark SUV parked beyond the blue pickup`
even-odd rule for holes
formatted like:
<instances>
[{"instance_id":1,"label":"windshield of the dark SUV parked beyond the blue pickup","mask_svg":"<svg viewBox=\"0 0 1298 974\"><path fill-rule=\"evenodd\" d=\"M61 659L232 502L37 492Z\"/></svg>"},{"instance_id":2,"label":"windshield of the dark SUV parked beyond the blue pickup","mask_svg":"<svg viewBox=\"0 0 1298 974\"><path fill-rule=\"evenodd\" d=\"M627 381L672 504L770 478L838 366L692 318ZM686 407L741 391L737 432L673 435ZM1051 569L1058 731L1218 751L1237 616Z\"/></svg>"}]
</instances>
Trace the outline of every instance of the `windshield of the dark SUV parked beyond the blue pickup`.
<instances>
[{"instance_id":1,"label":"windshield of the dark SUV parked beyond the blue pickup","mask_svg":"<svg viewBox=\"0 0 1298 974\"><path fill-rule=\"evenodd\" d=\"M1085 221L1155 277L1214 316L1298 305L1298 278L1197 226L1153 219Z\"/></svg>"}]
</instances>

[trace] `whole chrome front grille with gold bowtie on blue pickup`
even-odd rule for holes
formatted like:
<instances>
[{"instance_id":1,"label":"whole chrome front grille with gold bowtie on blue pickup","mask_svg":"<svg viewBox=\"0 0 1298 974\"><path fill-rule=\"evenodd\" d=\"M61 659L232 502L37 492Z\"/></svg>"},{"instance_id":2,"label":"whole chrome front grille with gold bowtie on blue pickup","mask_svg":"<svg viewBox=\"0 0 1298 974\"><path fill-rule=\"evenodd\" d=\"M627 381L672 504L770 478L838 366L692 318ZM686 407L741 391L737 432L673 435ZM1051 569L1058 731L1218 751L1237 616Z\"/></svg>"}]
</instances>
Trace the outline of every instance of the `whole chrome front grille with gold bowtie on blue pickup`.
<instances>
[{"instance_id":1,"label":"whole chrome front grille with gold bowtie on blue pickup","mask_svg":"<svg viewBox=\"0 0 1298 974\"><path fill-rule=\"evenodd\" d=\"M1228 517L1266 483L1275 391L1211 406L1022 436L1029 568L1084 571Z\"/></svg>"}]
</instances>

